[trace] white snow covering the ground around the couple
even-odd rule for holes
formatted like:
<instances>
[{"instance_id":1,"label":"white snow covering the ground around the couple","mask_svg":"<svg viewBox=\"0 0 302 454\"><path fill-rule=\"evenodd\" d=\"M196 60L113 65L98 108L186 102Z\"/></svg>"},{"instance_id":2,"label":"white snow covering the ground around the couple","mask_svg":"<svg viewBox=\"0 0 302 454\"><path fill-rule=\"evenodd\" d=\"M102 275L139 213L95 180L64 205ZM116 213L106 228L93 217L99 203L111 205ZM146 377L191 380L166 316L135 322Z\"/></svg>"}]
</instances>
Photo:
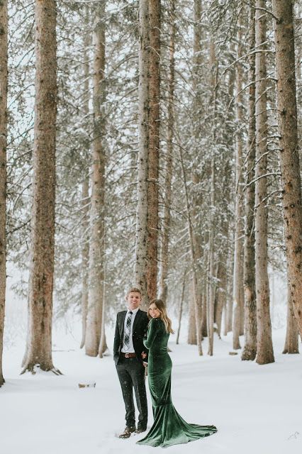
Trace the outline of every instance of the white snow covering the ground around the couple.
<instances>
[{"instance_id":1,"label":"white snow covering the ground around the couple","mask_svg":"<svg viewBox=\"0 0 302 454\"><path fill-rule=\"evenodd\" d=\"M183 333L185 336L185 333ZM284 328L274 330L274 364L242 362L229 355L231 336L215 338L214 356L198 357L185 341L169 343L172 398L191 423L215 424L216 435L167 448L169 454L300 454L302 358L282 355ZM107 333L112 345L113 330ZM6 384L0 389L1 454L132 454L162 448L120 440L124 405L112 355L89 358L79 350L79 322L55 329L53 360L64 375L19 375L24 342L4 350ZM203 352L206 353L206 341ZM96 387L79 389L79 383ZM148 395L149 396L149 395ZM149 426L152 406L149 400Z\"/></svg>"}]
</instances>

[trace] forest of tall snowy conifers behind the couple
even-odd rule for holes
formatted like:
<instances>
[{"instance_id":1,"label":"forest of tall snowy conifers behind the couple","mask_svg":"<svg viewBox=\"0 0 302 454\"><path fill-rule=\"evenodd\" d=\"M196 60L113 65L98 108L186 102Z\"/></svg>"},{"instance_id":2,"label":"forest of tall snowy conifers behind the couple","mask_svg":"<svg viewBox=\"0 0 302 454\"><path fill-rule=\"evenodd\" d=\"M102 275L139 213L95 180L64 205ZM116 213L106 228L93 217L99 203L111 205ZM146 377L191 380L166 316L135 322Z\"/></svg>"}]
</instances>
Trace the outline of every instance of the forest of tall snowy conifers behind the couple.
<instances>
[{"instance_id":1,"label":"forest of tall snowy conifers behind the couple","mask_svg":"<svg viewBox=\"0 0 302 454\"><path fill-rule=\"evenodd\" d=\"M298 353L301 26L301 0L0 0L3 389L8 264L21 372L65 372L67 313L103 358L133 286L187 320L197 356L231 333L241 360L272 363L274 275Z\"/></svg>"}]
</instances>

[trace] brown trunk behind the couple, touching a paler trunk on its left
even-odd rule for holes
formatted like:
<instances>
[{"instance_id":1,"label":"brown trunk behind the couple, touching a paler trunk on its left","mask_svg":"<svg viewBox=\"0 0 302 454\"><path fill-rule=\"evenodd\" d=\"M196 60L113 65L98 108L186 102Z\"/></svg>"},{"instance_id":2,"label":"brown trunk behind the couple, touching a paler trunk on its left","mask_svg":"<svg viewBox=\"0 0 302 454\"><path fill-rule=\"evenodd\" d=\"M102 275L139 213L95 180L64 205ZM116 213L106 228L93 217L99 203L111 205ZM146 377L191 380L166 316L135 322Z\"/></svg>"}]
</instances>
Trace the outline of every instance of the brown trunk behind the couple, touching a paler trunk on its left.
<instances>
[{"instance_id":1,"label":"brown trunk behind the couple, touching a paler trunk on its left","mask_svg":"<svg viewBox=\"0 0 302 454\"><path fill-rule=\"evenodd\" d=\"M160 159L160 0L149 0L150 79L149 79L149 164L147 214L147 294L157 297L158 167Z\"/></svg>"}]
</instances>

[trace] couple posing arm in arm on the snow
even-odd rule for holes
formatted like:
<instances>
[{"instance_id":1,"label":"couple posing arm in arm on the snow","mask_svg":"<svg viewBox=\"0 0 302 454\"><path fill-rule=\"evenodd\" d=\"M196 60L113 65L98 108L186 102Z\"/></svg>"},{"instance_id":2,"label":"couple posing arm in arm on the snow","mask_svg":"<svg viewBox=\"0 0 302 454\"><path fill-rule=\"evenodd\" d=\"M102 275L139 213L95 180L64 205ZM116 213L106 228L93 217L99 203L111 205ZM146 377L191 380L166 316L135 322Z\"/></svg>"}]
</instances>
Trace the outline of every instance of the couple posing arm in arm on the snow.
<instances>
[{"instance_id":1,"label":"couple posing arm in arm on the snow","mask_svg":"<svg viewBox=\"0 0 302 454\"><path fill-rule=\"evenodd\" d=\"M125 402L125 430L119 438L129 438L131 433L147 430L146 366L154 423L138 444L167 448L216 433L215 426L186 423L172 404L172 360L167 353L167 343L170 333L174 331L164 301L153 299L147 314L140 310L140 289L130 289L126 300L128 310L117 315L113 345L114 361ZM139 411L137 427L133 388Z\"/></svg>"}]
</instances>

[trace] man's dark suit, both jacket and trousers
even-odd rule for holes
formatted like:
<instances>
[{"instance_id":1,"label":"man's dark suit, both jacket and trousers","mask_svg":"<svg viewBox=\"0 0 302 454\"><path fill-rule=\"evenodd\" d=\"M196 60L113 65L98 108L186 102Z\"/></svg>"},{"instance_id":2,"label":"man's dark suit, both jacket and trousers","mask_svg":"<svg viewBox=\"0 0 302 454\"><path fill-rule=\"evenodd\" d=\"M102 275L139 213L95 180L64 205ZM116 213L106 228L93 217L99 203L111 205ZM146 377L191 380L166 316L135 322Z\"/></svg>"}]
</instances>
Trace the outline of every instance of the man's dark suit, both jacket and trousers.
<instances>
[{"instance_id":1,"label":"man's dark suit, both jacket and trousers","mask_svg":"<svg viewBox=\"0 0 302 454\"><path fill-rule=\"evenodd\" d=\"M116 332L113 343L113 358L116 363L118 379L121 383L123 399L125 402L126 427L135 426L135 406L133 402L133 388L135 391L136 404L138 405L138 429L147 428L147 395L145 387L145 367L142 365L142 351L147 353L143 344L143 338L147 331L149 319L145 311L138 309L133 322L132 341L135 358L123 358L124 323L127 311L118 312L116 317ZM147 359L146 359L147 360Z\"/></svg>"}]
</instances>

